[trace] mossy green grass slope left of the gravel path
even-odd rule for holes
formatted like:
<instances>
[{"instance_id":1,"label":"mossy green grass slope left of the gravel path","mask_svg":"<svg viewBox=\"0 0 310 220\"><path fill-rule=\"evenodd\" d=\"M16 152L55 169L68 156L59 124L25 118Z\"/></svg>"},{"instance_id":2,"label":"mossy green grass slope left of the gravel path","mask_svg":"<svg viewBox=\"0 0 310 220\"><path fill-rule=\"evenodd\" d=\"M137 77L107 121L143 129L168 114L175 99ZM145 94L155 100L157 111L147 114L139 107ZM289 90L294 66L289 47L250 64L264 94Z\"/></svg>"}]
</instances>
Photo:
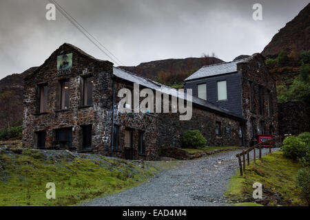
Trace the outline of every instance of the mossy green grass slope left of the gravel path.
<instances>
[{"instance_id":1,"label":"mossy green grass slope left of the gravel path","mask_svg":"<svg viewBox=\"0 0 310 220\"><path fill-rule=\"evenodd\" d=\"M146 181L158 169L99 156L79 159L23 149L0 151L0 206L74 206L131 188ZM46 199L45 185L54 182L56 199Z\"/></svg>"}]
</instances>

